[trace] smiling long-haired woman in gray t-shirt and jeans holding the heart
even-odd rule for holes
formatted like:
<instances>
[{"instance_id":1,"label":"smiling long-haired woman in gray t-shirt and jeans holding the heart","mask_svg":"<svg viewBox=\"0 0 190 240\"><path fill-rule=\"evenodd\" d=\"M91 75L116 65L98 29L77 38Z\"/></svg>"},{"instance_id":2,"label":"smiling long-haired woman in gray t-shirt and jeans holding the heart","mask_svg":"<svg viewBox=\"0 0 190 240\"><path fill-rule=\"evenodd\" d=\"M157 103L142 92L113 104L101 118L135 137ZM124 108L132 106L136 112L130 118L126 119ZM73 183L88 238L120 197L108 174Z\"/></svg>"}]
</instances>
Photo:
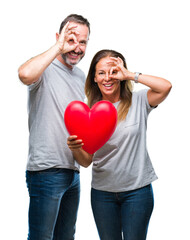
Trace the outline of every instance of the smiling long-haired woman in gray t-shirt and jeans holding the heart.
<instances>
[{"instance_id":1,"label":"smiling long-haired woman in gray t-shirt and jeans holding the heart","mask_svg":"<svg viewBox=\"0 0 190 240\"><path fill-rule=\"evenodd\" d=\"M148 89L132 92L132 82ZM147 117L170 89L163 78L128 71L116 51L99 51L92 60L85 86L88 105L112 102L118 125L94 156L82 149L77 136L68 138L68 146L82 166L93 159L91 204L102 240L146 239L153 210L151 183L157 179L146 148Z\"/></svg>"}]
</instances>

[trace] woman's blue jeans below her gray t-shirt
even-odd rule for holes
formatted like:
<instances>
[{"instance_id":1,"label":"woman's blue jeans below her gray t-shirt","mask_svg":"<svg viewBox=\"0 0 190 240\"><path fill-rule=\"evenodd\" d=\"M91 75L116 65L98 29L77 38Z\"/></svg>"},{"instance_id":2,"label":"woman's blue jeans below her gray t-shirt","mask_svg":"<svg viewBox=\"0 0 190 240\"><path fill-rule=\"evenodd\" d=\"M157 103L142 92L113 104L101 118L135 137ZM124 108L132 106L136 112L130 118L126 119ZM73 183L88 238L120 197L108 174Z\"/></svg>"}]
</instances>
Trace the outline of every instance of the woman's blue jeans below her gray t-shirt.
<instances>
[{"instance_id":1,"label":"woman's blue jeans below her gray t-shirt","mask_svg":"<svg viewBox=\"0 0 190 240\"><path fill-rule=\"evenodd\" d=\"M92 188L91 204L101 240L145 240L154 200L152 186L105 192Z\"/></svg>"}]
</instances>

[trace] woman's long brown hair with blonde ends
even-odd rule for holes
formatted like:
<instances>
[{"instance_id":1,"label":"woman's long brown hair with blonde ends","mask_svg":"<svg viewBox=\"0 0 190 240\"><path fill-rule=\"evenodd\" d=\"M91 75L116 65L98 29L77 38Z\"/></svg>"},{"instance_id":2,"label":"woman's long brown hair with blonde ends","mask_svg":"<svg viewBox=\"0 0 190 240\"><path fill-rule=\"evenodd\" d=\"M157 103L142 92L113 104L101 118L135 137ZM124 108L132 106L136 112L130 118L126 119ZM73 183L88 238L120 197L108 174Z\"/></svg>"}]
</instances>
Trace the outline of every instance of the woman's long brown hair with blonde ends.
<instances>
[{"instance_id":1,"label":"woman's long brown hair with blonde ends","mask_svg":"<svg viewBox=\"0 0 190 240\"><path fill-rule=\"evenodd\" d=\"M91 108L96 102L102 100L102 94L100 89L95 83L96 64L105 57L120 57L123 60L124 67L127 68L127 64L123 55L114 50L104 49L95 54L90 64L90 69L87 75L85 84L85 94L88 99L88 106ZM118 121L122 121L126 118L129 108L132 102L132 83L130 80L120 82L120 103L118 106Z\"/></svg>"}]
</instances>

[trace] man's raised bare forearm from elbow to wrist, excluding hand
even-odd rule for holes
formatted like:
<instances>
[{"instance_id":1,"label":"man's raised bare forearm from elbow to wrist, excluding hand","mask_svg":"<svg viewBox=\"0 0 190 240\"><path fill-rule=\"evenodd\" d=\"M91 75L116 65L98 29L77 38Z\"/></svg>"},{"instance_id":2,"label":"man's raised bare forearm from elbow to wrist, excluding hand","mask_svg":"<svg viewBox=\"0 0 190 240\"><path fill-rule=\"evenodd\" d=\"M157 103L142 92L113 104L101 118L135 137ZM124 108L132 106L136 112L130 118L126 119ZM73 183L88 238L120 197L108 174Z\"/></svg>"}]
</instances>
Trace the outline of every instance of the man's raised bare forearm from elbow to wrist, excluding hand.
<instances>
[{"instance_id":1,"label":"man's raised bare forearm from elbow to wrist, excluding hand","mask_svg":"<svg viewBox=\"0 0 190 240\"><path fill-rule=\"evenodd\" d=\"M36 82L44 70L59 54L60 49L55 44L46 52L31 58L18 69L20 80L26 85Z\"/></svg>"}]
</instances>

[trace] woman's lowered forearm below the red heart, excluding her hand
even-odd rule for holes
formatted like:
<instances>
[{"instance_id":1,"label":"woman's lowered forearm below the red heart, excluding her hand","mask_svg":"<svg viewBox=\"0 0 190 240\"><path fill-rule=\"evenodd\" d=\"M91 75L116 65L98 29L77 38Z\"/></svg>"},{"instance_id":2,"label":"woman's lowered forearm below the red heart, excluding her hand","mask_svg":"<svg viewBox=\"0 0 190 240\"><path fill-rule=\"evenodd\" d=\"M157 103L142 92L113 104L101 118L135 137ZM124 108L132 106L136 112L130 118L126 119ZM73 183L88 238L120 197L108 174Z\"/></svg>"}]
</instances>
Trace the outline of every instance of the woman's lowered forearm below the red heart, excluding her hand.
<instances>
[{"instance_id":1,"label":"woman's lowered forearm below the red heart, excluding her hand","mask_svg":"<svg viewBox=\"0 0 190 240\"><path fill-rule=\"evenodd\" d=\"M87 153L82 148L72 151L75 160L83 167L88 167L92 163L93 155Z\"/></svg>"}]
</instances>

